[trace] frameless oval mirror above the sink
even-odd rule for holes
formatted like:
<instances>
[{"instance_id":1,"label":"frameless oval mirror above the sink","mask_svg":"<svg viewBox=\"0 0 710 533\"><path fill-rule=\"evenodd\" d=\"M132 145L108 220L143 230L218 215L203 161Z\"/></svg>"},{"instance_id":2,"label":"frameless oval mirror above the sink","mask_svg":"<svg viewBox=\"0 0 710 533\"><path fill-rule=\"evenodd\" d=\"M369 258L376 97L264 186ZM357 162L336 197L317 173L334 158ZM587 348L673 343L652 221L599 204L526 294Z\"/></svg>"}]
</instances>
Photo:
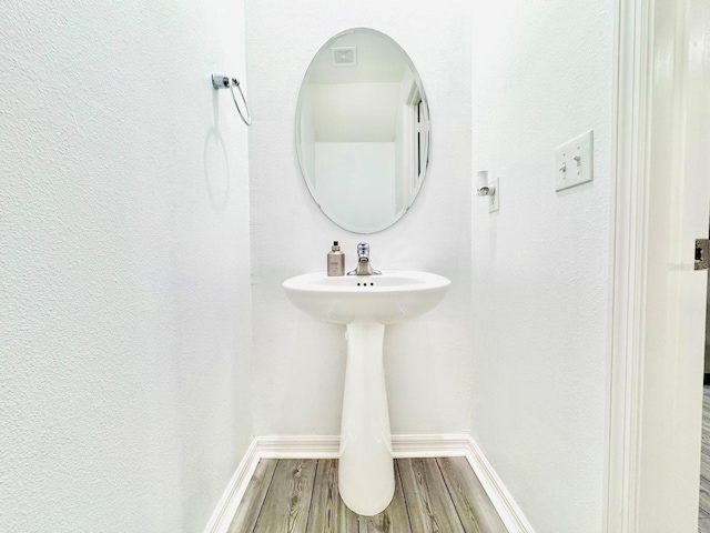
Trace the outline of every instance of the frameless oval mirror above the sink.
<instances>
[{"instance_id":1,"label":"frameless oval mirror above the sink","mask_svg":"<svg viewBox=\"0 0 710 533\"><path fill-rule=\"evenodd\" d=\"M389 228L422 188L430 142L424 87L406 52L379 31L347 30L318 50L295 130L308 190L341 228Z\"/></svg>"}]
</instances>

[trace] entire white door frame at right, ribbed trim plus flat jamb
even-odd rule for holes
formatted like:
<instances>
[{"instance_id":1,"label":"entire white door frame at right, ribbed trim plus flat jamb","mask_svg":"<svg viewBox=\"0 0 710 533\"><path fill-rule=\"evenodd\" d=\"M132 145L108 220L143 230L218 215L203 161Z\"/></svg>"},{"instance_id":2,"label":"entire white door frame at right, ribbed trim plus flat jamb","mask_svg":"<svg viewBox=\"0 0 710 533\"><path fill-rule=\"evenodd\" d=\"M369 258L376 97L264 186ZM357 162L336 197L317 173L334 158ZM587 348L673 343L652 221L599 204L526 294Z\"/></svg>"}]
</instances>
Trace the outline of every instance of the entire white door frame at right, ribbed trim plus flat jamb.
<instances>
[{"instance_id":1,"label":"entire white door frame at right, ribbed trim plus flat jamb","mask_svg":"<svg viewBox=\"0 0 710 533\"><path fill-rule=\"evenodd\" d=\"M606 531L692 533L708 280L693 260L710 208L710 2L620 3Z\"/></svg>"}]
</instances>

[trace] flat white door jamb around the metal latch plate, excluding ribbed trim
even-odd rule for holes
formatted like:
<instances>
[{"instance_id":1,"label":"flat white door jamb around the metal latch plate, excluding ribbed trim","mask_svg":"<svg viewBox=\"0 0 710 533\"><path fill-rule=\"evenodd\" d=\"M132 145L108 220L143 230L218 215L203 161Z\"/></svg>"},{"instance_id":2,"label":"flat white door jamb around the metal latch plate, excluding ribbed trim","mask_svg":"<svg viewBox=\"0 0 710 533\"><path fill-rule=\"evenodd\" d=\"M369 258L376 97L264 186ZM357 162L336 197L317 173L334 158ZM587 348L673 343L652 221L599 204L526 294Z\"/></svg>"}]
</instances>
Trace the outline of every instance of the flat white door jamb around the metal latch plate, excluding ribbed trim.
<instances>
[{"instance_id":1,"label":"flat white door jamb around the metal latch plate, excluding ribbed trim","mask_svg":"<svg viewBox=\"0 0 710 533\"><path fill-rule=\"evenodd\" d=\"M710 2L657 0L639 532L698 529L710 207ZM706 34L707 33L707 34Z\"/></svg>"}]
</instances>

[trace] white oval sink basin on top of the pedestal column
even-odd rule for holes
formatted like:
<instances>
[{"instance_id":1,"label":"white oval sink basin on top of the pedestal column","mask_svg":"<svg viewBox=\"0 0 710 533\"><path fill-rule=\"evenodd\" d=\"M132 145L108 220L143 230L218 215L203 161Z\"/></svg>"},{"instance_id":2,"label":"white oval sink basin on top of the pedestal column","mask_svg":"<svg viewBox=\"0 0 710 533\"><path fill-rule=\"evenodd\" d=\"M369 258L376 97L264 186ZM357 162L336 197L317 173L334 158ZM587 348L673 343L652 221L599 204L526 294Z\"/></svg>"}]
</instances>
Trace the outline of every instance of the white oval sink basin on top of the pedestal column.
<instances>
[{"instance_id":1,"label":"white oval sink basin on top of the pedestal column","mask_svg":"<svg viewBox=\"0 0 710 533\"><path fill-rule=\"evenodd\" d=\"M284 282L284 290L296 308L326 322L394 324L434 308L449 284L442 275L393 270L382 275L297 275Z\"/></svg>"}]
</instances>

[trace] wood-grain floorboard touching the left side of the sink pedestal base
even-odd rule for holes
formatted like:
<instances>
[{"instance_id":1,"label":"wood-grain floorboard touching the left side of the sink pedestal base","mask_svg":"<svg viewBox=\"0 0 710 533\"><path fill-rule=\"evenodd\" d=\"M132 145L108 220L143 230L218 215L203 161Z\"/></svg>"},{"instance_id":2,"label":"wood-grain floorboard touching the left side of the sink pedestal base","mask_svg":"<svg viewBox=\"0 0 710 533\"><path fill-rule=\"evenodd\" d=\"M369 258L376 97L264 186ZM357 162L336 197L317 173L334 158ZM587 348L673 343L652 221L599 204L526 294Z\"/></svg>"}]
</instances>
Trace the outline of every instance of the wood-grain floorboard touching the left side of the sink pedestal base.
<instances>
[{"instance_id":1,"label":"wood-grain floorboard touching the left side of the sink pedestal base","mask_svg":"<svg viewBox=\"0 0 710 533\"><path fill-rule=\"evenodd\" d=\"M320 459L306 533L358 533L357 514L347 509L337 490L337 460Z\"/></svg>"}]
</instances>

